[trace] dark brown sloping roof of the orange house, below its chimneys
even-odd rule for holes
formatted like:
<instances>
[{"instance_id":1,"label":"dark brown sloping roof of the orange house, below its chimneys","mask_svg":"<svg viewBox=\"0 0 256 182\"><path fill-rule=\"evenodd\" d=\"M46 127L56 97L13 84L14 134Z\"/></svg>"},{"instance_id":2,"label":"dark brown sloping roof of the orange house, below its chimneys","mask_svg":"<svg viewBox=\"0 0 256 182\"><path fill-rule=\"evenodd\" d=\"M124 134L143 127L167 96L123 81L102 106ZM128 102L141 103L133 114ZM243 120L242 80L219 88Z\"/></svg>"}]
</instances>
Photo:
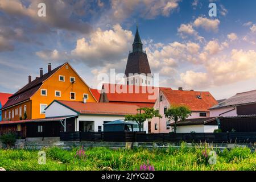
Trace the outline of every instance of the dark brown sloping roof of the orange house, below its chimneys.
<instances>
[{"instance_id":1,"label":"dark brown sloping roof of the orange house, below its chimneys","mask_svg":"<svg viewBox=\"0 0 256 182\"><path fill-rule=\"evenodd\" d=\"M36 78L30 84L28 83L27 85L23 86L22 89L19 89L18 92L14 93L13 96L9 97L9 100L2 107L2 109L13 106L15 104L19 104L20 102L29 100L30 97L32 97L36 93L36 91L40 88L40 86L43 84L43 81L47 80L47 78L52 76L57 70L63 67L64 64L53 69L51 72L44 74L42 77Z\"/></svg>"}]
</instances>

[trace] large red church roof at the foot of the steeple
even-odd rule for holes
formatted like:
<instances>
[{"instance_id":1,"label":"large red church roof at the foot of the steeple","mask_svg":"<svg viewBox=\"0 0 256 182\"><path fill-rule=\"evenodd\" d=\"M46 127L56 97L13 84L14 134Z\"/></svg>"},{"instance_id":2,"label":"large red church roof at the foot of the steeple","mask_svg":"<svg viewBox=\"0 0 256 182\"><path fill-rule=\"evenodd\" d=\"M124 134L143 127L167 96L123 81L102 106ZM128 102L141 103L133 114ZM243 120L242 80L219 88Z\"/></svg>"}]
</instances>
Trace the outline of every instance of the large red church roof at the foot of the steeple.
<instances>
[{"instance_id":1,"label":"large red church roof at the foot of the steeple","mask_svg":"<svg viewBox=\"0 0 256 182\"><path fill-rule=\"evenodd\" d=\"M159 88L155 86L104 84L102 88L109 102L154 104L159 93Z\"/></svg>"}]
</instances>

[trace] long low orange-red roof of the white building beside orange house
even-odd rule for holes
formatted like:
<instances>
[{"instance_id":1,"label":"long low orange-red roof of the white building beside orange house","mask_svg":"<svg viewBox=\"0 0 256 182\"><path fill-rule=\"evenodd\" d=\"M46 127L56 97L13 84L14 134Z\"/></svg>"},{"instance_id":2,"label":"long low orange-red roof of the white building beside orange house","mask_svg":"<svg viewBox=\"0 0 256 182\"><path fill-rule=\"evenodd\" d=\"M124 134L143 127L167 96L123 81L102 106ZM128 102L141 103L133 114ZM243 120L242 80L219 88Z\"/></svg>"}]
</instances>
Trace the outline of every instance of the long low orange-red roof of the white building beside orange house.
<instances>
[{"instance_id":1,"label":"long low orange-red roof of the white building beside orange house","mask_svg":"<svg viewBox=\"0 0 256 182\"><path fill-rule=\"evenodd\" d=\"M76 101L56 101L60 104L67 106L81 114L109 114L109 115L127 115L137 114L137 105L131 104L114 104L114 103L94 103Z\"/></svg>"}]
</instances>

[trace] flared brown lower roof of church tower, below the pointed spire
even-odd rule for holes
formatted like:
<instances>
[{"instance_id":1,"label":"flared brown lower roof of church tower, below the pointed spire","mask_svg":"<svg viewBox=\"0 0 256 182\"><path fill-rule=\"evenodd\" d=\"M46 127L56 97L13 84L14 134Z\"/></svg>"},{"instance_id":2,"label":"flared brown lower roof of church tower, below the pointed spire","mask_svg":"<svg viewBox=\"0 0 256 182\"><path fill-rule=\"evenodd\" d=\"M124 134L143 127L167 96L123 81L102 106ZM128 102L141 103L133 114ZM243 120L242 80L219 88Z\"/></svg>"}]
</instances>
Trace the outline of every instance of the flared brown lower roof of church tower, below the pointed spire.
<instances>
[{"instance_id":1,"label":"flared brown lower roof of church tower, below the pointed spire","mask_svg":"<svg viewBox=\"0 0 256 182\"><path fill-rule=\"evenodd\" d=\"M144 52L131 52L129 53L125 75L128 77L129 73L144 73L151 74L150 65L147 60L147 54Z\"/></svg>"}]
</instances>

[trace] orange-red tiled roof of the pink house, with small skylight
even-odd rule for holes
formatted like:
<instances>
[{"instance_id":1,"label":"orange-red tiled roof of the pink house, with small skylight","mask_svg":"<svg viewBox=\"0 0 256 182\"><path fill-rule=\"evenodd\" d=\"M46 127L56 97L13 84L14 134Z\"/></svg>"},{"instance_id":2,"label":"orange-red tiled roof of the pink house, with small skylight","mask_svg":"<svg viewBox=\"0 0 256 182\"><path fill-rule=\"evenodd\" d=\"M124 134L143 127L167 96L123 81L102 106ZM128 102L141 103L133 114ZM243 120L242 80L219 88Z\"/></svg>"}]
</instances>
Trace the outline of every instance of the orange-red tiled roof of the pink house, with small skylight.
<instances>
[{"instance_id":1,"label":"orange-red tiled roof of the pink house, with small skylight","mask_svg":"<svg viewBox=\"0 0 256 182\"><path fill-rule=\"evenodd\" d=\"M210 107L218 104L209 92L172 89L160 90L171 105L185 105L192 111L209 111Z\"/></svg>"}]
</instances>

